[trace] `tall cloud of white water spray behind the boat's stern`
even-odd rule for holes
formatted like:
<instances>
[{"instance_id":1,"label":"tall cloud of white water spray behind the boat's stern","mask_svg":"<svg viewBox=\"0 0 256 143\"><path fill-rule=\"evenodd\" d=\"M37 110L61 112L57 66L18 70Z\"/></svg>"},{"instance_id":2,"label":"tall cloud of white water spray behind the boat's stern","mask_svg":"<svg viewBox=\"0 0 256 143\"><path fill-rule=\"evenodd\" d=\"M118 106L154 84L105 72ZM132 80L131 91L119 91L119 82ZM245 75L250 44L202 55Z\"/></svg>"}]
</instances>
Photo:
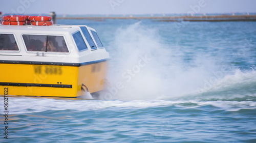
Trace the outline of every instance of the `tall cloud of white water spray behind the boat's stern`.
<instances>
[{"instance_id":1,"label":"tall cloud of white water spray behind the boat's stern","mask_svg":"<svg viewBox=\"0 0 256 143\"><path fill-rule=\"evenodd\" d=\"M239 76L232 66L218 64L221 58L217 61L203 52L185 61L179 45L166 44L157 28L140 22L118 28L112 47L111 84L101 99L172 100L198 96L225 87L231 84L224 82L227 78ZM253 71L249 74L256 77ZM240 80L241 84L246 82Z\"/></svg>"}]
</instances>

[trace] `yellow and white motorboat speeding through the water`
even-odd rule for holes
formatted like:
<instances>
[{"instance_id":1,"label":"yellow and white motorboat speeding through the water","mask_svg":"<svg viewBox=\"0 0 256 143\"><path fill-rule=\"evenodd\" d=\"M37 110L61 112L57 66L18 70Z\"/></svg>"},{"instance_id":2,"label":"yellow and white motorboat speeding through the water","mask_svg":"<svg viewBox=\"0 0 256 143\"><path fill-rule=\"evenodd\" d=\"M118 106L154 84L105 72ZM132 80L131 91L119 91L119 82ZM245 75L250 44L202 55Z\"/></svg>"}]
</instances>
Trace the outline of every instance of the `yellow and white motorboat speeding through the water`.
<instances>
[{"instance_id":1,"label":"yellow and white motorboat speeding through the water","mask_svg":"<svg viewBox=\"0 0 256 143\"><path fill-rule=\"evenodd\" d=\"M79 98L104 89L110 56L94 28L11 22L0 25L0 95Z\"/></svg>"}]
</instances>

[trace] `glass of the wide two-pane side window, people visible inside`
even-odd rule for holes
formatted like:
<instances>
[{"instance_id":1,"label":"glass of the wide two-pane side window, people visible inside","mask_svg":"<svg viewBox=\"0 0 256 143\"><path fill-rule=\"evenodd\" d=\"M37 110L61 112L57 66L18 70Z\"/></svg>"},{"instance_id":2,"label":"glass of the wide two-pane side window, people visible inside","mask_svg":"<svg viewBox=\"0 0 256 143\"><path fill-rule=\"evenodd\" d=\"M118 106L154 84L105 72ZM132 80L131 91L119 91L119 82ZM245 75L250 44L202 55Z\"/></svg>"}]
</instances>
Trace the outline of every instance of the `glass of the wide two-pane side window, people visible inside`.
<instances>
[{"instance_id":1,"label":"glass of the wide two-pane side window, people visible inside","mask_svg":"<svg viewBox=\"0 0 256 143\"><path fill-rule=\"evenodd\" d=\"M23 39L28 51L69 52L63 36L23 35Z\"/></svg>"}]
</instances>

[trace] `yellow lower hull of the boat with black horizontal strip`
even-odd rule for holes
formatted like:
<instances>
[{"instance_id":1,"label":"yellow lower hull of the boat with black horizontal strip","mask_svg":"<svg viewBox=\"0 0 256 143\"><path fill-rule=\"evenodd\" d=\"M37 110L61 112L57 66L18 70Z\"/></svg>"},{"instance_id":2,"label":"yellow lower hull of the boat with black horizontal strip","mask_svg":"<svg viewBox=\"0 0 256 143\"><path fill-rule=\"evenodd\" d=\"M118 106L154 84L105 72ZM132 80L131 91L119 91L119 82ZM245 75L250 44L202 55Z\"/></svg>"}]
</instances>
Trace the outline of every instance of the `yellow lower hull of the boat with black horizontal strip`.
<instances>
[{"instance_id":1,"label":"yellow lower hull of the boat with black horizontal strip","mask_svg":"<svg viewBox=\"0 0 256 143\"><path fill-rule=\"evenodd\" d=\"M80 66L0 64L0 95L79 97L104 89L108 61ZM8 91L6 89L8 88Z\"/></svg>"}]
</instances>

